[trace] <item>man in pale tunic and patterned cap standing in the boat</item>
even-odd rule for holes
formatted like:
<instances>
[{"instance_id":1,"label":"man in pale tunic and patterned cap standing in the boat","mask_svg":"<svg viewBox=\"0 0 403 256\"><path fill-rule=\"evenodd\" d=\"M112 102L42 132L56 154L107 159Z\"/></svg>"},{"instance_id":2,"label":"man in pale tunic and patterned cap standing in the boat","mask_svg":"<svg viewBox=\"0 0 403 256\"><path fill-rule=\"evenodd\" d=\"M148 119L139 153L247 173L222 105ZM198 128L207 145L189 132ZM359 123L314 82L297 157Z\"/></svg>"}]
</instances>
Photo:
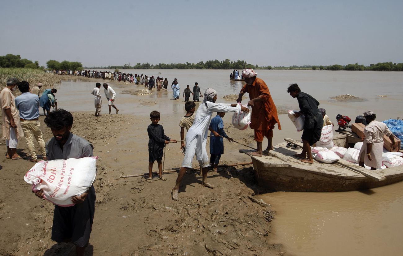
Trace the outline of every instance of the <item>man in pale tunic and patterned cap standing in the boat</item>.
<instances>
[{"instance_id":1,"label":"man in pale tunic and patterned cap standing in the boat","mask_svg":"<svg viewBox=\"0 0 403 256\"><path fill-rule=\"evenodd\" d=\"M367 111L364 113L364 117L368 125L364 128L365 139L359 152L359 166L364 167L365 164L370 166L371 170L376 170L382 166L384 134L392 141L392 145L395 144L395 137L386 124L375 121L374 112Z\"/></svg>"}]
</instances>

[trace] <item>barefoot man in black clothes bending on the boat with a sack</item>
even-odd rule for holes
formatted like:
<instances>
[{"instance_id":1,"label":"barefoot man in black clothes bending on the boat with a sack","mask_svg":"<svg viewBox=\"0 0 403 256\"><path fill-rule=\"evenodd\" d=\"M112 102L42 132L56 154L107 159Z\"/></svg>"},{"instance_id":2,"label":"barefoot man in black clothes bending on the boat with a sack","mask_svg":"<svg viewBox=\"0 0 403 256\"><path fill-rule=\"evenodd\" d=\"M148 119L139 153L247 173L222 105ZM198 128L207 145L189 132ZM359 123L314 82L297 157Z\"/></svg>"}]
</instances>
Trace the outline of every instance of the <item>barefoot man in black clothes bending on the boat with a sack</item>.
<instances>
[{"instance_id":1,"label":"barefoot man in black clothes bending on the boat with a sack","mask_svg":"<svg viewBox=\"0 0 403 256\"><path fill-rule=\"evenodd\" d=\"M302 143L303 150L301 154L294 155L296 157L302 158L299 161L313 164L314 160L312 158L311 146L320 139L323 127L323 117L320 113L318 106L318 100L315 100L311 95L301 92L298 84L290 84L287 92L290 93L293 98L297 98L299 112L295 113L295 117L300 115L305 115L305 124L302 133Z\"/></svg>"}]
</instances>

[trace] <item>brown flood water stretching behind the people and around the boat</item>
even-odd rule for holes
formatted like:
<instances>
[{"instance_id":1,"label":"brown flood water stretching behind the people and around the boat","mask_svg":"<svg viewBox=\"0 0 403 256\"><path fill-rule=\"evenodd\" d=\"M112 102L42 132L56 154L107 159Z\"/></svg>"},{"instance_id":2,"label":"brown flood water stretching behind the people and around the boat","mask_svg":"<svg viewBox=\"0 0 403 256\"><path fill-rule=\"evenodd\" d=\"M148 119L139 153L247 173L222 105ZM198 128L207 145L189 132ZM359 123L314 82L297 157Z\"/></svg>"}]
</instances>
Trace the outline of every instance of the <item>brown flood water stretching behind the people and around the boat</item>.
<instances>
[{"instance_id":1,"label":"brown flood water stretching behind the people and around the boat","mask_svg":"<svg viewBox=\"0 0 403 256\"><path fill-rule=\"evenodd\" d=\"M230 70L124 71L167 77L169 85L177 78L181 86L179 101L172 99L169 86L166 91L144 96L121 94L120 92L130 88L112 86L117 93L116 106L120 109L119 113L148 119L152 110L158 110L167 134L170 130L177 132L179 119L185 114L182 92L187 84L192 88L198 82L202 92L208 87L216 89L217 102L227 102L222 100L222 96L239 94L243 86L243 82L229 80ZM356 116L369 110L376 113L378 121L403 118L403 72L257 72L258 77L268 85L278 109L298 110L297 100L287 93L289 84L297 83L303 92L311 94L320 102L320 107L326 109L333 123L336 123L337 114L347 115L354 121ZM95 82L62 82L56 94L58 106L69 111L93 112L93 96L90 93L94 86ZM131 88L142 87L132 84ZM330 98L341 94L351 94L365 100L339 102ZM243 103L246 102L244 100ZM102 114L106 111L107 106L104 103ZM231 122L231 116L226 115L224 122ZM283 142L285 137L300 139L301 133L295 130L287 115L280 115L279 118L282 130L274 129L273 142ZM226 154L239 157L237 152ZM291 255L402 255L403 245L399 240L403 235L403 182L361 192L277 192L260 195L260 198L276 211L268 242L282 243L284 250Z\"/></svg>"}]
</instances>

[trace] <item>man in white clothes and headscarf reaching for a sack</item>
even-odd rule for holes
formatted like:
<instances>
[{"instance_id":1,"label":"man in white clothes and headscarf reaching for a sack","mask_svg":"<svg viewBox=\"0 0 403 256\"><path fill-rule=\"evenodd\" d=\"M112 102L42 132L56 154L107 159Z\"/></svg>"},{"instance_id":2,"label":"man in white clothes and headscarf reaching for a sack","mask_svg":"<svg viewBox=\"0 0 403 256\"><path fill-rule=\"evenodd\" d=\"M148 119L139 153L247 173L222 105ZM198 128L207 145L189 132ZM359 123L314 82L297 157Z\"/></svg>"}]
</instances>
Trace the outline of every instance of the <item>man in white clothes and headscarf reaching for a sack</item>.
<instances>
[{"instance_id":1,"label":"man in white clothes and headscarf reaching for a sack","mask_svg":"<svg viewBox=\"0 0 403 256\"><path fill-rule=\"evenodd\" d=\"M217 100L217 92L208 88L204 93L204 100L199 109L196 111L193 125L186 133L186 151L183 159L181 170L179 170L178 179L174 188L172 188L172 199L178 201L179 185L183 175L187 169L192 168L193 157L196 154L196 159L202 167L203 181L202 186L213 188L214 186L207 183L207 167L210 166L206 151L208 127L213 112L249 112L248 108L239 107L237 104L215 103Z\"/></svg>"}]
</instances>

